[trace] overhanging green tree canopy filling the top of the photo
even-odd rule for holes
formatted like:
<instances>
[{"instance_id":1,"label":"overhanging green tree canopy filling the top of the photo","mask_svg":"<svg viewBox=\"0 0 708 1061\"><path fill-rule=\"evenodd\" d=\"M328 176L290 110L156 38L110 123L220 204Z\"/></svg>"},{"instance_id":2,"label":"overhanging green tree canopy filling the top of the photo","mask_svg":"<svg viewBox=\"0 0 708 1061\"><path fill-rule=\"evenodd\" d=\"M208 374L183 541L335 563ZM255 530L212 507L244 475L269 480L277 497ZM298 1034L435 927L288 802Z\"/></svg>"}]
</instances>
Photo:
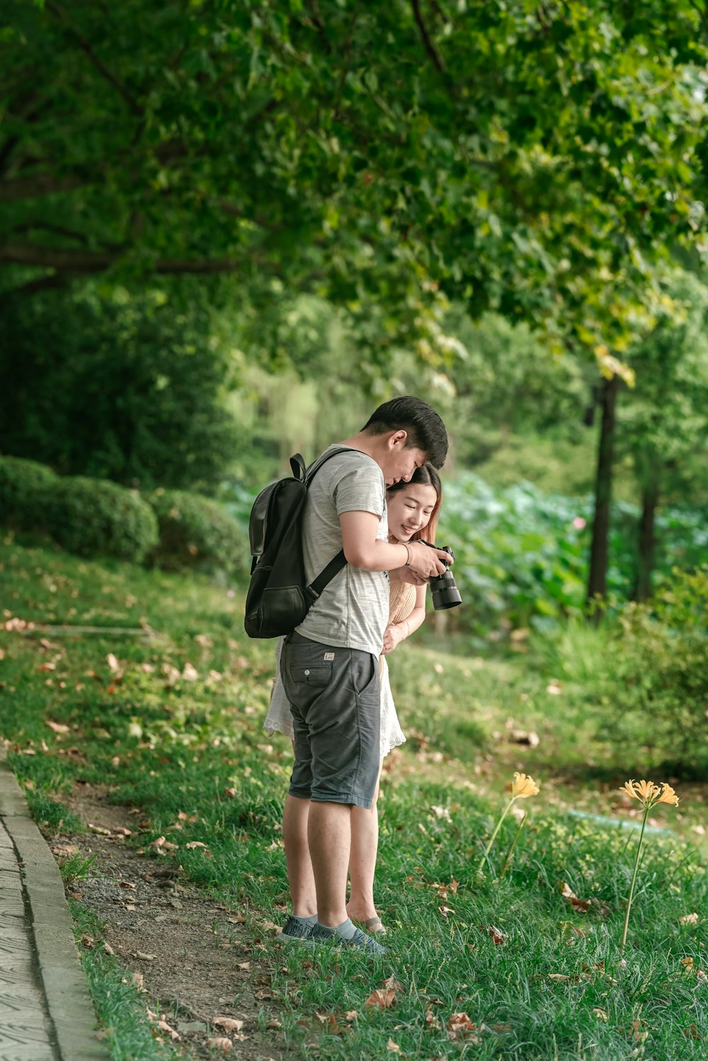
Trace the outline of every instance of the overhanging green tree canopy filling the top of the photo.
<instances>
[{"instance_id":1,"label":"overhanging green tree canopy filling the top of the photo","mask_svg":"<svg viewBox=\"0 0 708 1061\"><path fill-rule=\"evenodd\" d=\"M462 298L611 367L703 223L698 0L5 11L6 285L230 273L384 346Z\"/></svg>"}]
</instances>

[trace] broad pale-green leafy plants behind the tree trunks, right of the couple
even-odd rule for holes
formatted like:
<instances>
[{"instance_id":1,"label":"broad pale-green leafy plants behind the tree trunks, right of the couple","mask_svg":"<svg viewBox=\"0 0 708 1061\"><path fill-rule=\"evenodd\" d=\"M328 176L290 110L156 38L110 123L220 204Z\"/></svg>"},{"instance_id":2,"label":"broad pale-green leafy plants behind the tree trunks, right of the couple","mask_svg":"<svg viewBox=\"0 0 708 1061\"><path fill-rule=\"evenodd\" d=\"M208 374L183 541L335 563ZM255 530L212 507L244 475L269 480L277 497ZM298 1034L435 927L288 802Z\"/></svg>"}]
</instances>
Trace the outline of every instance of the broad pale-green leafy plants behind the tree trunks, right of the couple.
<instances>
[{"instance_id":1,"label":"broad pale-green leafy plants behind the tree trunks, right of the couple","mask_svg":"<svg viewBox=\"0 0 708 1061\"><path fill-rule=\"evenodd\" d=\"M610 593L626 599L635 567L638 510L612 507ZM591 502L543 493L531 483L495 489L472 473L444 486L437 540L452 545L463 607L450 621L486 636L537 628L580 615L585 607ZM705 562L708 536L700 511L664 510L660 574Z\"/></svg>"}]
</instances>

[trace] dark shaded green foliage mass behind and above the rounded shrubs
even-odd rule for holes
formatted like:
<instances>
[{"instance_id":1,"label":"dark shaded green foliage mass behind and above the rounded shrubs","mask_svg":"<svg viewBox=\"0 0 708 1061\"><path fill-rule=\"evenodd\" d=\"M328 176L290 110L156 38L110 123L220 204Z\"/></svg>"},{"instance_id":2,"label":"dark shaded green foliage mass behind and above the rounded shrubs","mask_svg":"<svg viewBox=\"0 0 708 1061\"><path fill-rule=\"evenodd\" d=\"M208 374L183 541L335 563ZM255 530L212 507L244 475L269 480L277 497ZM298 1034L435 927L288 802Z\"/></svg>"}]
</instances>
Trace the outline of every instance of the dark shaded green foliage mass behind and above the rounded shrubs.
<instances>
[{"instance_id":1,"label":"dark shaded green foliage mass behind and above the rounded shrubs","mask_svg":"<svg viewBox=\"0 0 708 1061\"><path fill-rule=\"evenodd\" d=\"M215 489L240 434L227 332L185 282L5 298L0 447L64 474Z\"/></svg>"}]
</instances>

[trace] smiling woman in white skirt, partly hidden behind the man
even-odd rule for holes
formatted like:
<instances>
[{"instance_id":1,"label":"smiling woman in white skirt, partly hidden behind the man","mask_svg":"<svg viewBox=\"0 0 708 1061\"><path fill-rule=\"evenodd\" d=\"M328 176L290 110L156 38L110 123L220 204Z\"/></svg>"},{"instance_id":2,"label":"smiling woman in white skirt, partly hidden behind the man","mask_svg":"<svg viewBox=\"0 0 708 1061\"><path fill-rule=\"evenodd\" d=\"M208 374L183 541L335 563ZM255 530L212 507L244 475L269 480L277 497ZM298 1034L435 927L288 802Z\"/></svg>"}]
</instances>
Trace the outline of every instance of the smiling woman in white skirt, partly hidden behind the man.
<instances>
[{"instance_id":1,"label":"smiling woman in white skirt, partly hidden behind the man","mask_svg":"<svg viewBox=\"0 0 708 1061\"><path fill-rule=\"evenodd\" d=\"M419 538L434 540L442 500L439 476L430 464L416 468L408 483L402 480L395 483L386 491L388 540L401 543L417 541ZM383 648L380 657L380 747L382 760L392 748L405 741L398 724L396 707L391 693L385 657L404 638L417 630L424 622L426 618L426 586L415 587L409 582L393 580L391 582L388 625L383 636ZM276 646L278 669L280 646L281 642L279 641ZM269 734L273 734L277 730L292 741L293 723L290 705L278 671L276 671L276 675L271 707L263 729ZM379 777L380 775L379 769ZM350 893L347 914L352 921L360 922L368 932L385 933L381 918L376 912L374 905L374 873L379 841L379 818L376 807L378 790L377 784L370 810L366 811L360 806L351 808Z\"/></svg>"}]
</instances>

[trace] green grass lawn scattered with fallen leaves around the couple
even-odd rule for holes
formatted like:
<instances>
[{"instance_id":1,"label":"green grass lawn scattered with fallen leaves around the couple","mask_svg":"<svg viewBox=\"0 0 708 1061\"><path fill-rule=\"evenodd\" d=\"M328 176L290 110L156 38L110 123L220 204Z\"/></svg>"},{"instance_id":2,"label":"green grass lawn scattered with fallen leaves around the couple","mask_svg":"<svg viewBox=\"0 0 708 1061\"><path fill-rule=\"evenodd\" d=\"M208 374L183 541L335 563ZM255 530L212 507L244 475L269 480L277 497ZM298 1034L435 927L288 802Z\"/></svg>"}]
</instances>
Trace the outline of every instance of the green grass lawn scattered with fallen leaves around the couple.
<instances>
[{"instance_id":1,"label":"green grass lawn scattered with fallen leaves around the couple","mask_svg":"<svg viewBox=\"0 0 708 1061\"><path fill-rule=\"evenodd\" d=\"M140 807L149 823L128 842L148 856L170 837L188 876L244 911L254 946L277 956L271 990L295 1056L705 1057L705 788L677 783L680 806L651 818L622 957L638 804L617 787L645 777L647 760L603 741L606 707L572 708L577 675L524 655L470 657L430 631L399 648L392 683L409 742L385 764L377 887L388 953L280 952L263 923L287 903L290 747L260 728L273 649L243 633L241 590L10 539L0 564L0 735L38 820L57 825L77 782ZM514 770L540 794L520 801L529 819L507 871L514 815L478 877Z\"/></svg>"}]
</instances>

